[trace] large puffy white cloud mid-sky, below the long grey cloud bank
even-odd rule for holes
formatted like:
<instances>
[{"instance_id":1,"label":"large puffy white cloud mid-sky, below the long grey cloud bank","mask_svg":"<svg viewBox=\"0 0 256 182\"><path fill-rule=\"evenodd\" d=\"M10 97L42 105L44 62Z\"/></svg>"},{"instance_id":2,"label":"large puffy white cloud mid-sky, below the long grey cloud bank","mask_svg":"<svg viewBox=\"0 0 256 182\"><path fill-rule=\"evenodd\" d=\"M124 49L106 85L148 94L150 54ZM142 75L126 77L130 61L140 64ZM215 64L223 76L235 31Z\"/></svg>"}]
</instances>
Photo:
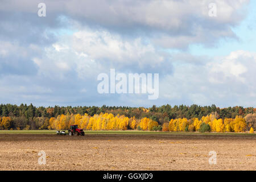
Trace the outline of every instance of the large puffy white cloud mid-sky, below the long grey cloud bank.
<instances>
[{"instance_id":1,"label":"large puffy white cloud mid-sky, below the long grey cloud bank","mask_svg":"<svg viewBox=\"0 0 256 182\"><path fill-rule=\"evenodd\" d=\"M68 72L80 78L97 77L98 73L117 71L154 73L171 72L168 53L159 52L153 44L141 38L124 39L106 30L93 31L82 28L46 47L43 57L32 60L39 68L39 75L61 77Z\"/></svg>"}]
</instances>

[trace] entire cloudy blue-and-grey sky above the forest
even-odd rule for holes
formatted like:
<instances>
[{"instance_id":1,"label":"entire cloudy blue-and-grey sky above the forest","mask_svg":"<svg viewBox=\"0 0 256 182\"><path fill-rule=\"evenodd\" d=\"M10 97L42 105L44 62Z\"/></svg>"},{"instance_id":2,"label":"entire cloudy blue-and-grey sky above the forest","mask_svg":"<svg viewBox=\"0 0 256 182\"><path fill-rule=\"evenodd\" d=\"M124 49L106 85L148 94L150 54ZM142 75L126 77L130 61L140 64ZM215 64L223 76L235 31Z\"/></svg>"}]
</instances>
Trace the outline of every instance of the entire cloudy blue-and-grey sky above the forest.
<instances>
[{"instance_id":1,"label":"entire cloudy blue-and-grey sky above the forest","mask_svg":"<svg viewBox=\"0 0 256 182\"><path fill-rule=\"evenodd\" d=\"M46 16L38 16L39 3ZM1 103L255 107L255 7L249 0L0 0ZM97 76L110 68L159 73L159 98L98 93Z\"/></svg>"}]
</instances>

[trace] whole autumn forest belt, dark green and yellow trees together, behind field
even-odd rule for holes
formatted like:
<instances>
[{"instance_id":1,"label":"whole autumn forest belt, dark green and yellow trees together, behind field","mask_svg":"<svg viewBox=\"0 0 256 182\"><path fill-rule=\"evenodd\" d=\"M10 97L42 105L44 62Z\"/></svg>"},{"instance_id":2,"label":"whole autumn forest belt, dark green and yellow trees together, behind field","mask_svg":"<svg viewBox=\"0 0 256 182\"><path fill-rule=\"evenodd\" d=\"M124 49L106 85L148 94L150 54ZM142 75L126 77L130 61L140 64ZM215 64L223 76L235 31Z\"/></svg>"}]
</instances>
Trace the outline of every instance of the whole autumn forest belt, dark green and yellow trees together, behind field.
<instances>
[{"instance_id":1,"label":"whole autumn forest belt, dark green and yellow trees together, behind field","mask_svg":"<svg viewBox=\"0 0 256 182\"><path fill-rule=\"evenodd\" d=\"M210 131L255 130L256 108L212 106L55 106L0 105L0 129L68 129L76 123L87 130L199 131L202 123ZM167 126L168 125L168 126ZM168 128L168 129L167 129Z\"/></svg>"}]
</instances>

